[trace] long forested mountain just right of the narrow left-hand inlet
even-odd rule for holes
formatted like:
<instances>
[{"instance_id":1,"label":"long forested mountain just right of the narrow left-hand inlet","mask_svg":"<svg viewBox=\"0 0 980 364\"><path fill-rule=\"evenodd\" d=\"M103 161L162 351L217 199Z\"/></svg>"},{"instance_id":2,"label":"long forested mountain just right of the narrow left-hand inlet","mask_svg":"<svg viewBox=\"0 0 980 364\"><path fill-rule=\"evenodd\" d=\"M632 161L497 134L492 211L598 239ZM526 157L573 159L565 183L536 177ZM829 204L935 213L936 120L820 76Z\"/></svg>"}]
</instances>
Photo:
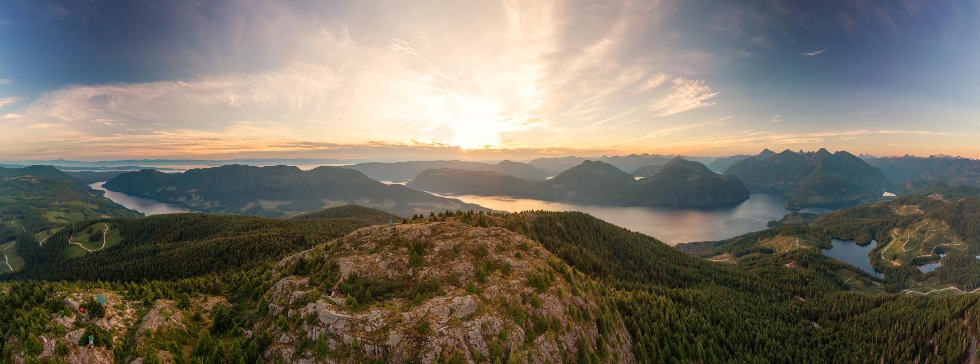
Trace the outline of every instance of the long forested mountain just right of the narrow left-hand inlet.
<instances>
[{"instance_id":1,"label":"long forested mountain just right of the narrow left-hand inlet","mask_svg":"<svg viewBox=\"0 0 980 364\"><path fill-rule=\"evenodd\" d=\"M348 204L398 214L485 209L402 185L384 184L357 170L332 166L303 171L290 165L229 164L183 173L144 169L123 173L103 187L198 211L270 217Z\"/></svg>"}]
</instances>

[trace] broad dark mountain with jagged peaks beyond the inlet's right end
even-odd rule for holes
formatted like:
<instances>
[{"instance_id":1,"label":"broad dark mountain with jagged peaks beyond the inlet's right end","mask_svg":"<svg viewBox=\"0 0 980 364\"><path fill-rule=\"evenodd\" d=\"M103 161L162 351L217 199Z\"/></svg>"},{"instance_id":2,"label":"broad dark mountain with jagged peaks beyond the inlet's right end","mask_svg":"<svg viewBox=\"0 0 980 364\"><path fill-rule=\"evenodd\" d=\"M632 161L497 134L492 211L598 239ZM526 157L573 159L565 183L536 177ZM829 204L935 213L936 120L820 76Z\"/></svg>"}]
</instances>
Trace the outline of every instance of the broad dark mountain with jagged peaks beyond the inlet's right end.
<instances>
[{"instance_id":1,"label":"broad dark mountain with jagged peaks beyond the inlet's right end","mask_svg":"<svg viewBox=\"0 0 980 364\"><path fill-rule=\"evenodd\" d=\"M791 199L790 208L858 204L881 196L887 185L881 171L844 151L766 151L735 163L725 175L736 176L749 187L780 191Z\"/></svg>"}]
</instances>

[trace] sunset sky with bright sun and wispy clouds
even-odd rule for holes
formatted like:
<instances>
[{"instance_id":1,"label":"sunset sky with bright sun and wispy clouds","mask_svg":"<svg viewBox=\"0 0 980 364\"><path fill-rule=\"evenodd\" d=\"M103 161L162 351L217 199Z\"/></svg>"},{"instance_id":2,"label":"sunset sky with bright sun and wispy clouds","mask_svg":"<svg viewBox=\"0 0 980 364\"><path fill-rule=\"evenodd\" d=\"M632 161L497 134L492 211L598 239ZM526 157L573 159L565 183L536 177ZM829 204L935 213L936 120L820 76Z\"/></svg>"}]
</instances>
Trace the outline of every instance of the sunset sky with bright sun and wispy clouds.
<instances>
[{"instance_id":1,"label":"sunset sky with bright sun and wispy clouds","mask_svg":"<svg viewBox=\"0 0 980 364\"><path fill-rule=\"evenodd\" d=\"M0 159L980 158L980 2L0 2Z\"/></svg>"}]
</instances>

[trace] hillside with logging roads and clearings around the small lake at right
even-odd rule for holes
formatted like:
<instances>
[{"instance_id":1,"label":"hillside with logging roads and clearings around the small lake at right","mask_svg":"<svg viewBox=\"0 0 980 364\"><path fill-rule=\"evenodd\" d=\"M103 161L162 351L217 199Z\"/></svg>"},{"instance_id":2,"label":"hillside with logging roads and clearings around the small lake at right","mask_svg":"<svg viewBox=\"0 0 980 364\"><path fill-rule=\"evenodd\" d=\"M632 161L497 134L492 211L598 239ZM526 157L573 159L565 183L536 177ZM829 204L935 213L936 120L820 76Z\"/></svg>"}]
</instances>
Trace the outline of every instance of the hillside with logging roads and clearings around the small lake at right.
<instances>
[{"instance_id":1,"label":"hillside with logging roads and clearings around the small lake at right","mask_svg":"<svg viewBox=\"0 0 980 364\"><path fill-rule=\"evenodd\" d=\"M949 199L938 194L907 198L826 213L787 215L774 228L721 242L679 245L698 256L753 259L759 254L830 249L830 237L871 244L866 259L893 290L956 286L980 287L980 200ZM932 272L917 265L941 263Z\"/></svg>"}]
</instances>

